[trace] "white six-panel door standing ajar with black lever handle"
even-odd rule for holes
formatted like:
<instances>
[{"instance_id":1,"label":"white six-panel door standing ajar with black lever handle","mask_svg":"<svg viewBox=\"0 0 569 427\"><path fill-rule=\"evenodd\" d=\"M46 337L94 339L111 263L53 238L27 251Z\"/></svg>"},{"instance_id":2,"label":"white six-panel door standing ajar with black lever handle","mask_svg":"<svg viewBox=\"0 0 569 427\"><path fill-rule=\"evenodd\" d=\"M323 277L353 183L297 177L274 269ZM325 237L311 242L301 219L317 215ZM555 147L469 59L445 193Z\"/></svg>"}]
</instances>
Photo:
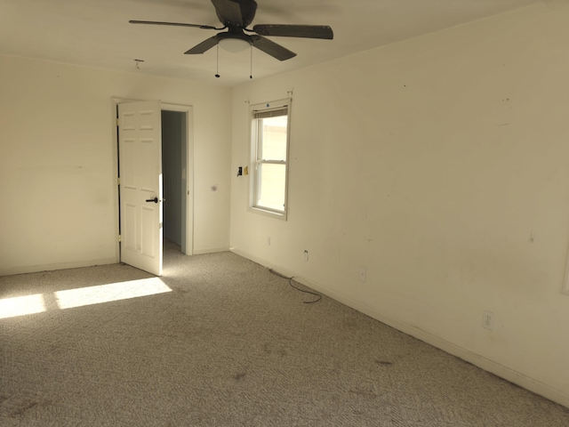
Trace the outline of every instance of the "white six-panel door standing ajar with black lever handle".
<instances>
[{"instance_id":1,"label":"white six-panel door standing ajar with black lever handle","mask_svg":"<svg viewBox=\"0 0 569 427\"><path fill-rule=\"evenodd\" d=\"M159 101L118 104L121 261L162 275L162 124Z\"/></svg>"}]
</instances>

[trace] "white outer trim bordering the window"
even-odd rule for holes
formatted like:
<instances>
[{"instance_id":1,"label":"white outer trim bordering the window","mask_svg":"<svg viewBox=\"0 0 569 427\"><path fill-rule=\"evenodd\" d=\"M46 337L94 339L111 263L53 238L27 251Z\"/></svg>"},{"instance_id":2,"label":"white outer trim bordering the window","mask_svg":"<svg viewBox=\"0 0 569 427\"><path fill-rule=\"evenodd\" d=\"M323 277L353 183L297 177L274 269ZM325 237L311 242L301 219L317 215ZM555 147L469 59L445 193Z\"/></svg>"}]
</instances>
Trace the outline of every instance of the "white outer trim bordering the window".
<instances>
[{"instance_id":1,"label":"white outer trim bordering the window","mask_svg":"<svg viewBox=\"0 0 569 427\"><path fill-rule=\"evenodd\" d=\"M249 180L249 203L248 203L248 210L255 214L262 214L268 217L277 218L283 221L286 221L286 217L288 214L288 178L289 178L289 151L291 147L291 105L293 103L292 98L278 100L278 101L271 101L271 102L264 102L262 104L253 104L249 106L249 147L250 147L250 180ZM255 179L257 178L256 173L256 165L257 165L257 139L253 138L257 133L257 129L255 126L255 122L253 120L254 113L262 110L271 110L271 109L283 109L284 107L287 108L287 127L286 127L286 161L275 161L275 162L267 162L267 163L275 163L282 165L285 164L286 169L286 177L284 181L284 211L273 211L268 208L263 208L254 205L255 201Z\"/></svg>"}]
</instances>

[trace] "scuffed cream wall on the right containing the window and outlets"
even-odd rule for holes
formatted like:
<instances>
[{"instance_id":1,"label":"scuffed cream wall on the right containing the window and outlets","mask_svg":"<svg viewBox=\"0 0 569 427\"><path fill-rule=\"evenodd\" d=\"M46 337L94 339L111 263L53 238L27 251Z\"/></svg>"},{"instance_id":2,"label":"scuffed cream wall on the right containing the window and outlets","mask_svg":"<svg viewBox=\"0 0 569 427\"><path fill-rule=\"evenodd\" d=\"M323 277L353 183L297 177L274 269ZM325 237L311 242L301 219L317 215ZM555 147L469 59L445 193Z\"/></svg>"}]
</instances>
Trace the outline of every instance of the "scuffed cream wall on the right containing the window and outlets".
<instances>
[{"instance_id":1,"label":"scuffed cream wall on the right containing the window and outlets","mask_svg":"<svg viewBox=\"0 0 569 427\"><path fill-rule=\"evenodd\" d=\"M235 252L569 406L567 22L535 4L236 88L233 170L247 101L293 112L288 221L232 177Z\"/></svg>"}]
</instances>

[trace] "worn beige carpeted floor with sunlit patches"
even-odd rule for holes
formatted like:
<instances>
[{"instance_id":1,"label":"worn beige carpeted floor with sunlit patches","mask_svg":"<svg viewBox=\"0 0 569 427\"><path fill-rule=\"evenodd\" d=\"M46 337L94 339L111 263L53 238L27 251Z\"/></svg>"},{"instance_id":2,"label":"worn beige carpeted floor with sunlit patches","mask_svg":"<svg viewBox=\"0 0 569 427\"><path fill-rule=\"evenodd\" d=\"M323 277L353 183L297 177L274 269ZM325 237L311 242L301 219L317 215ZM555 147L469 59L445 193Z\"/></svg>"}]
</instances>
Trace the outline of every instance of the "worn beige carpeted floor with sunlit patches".
<instances>
[{"instance_id":1,"label":"worn beige carpeted floor with sunlit patches","mask_svg":"<svg viewBox=\"0 0 569 427\"><path fill-rule=\"evenodd\" d=\"M172 245L159 279L0 278L0 425L569 426L565 407L313 299L236 254Z\"/></svg>"}]
</instances>

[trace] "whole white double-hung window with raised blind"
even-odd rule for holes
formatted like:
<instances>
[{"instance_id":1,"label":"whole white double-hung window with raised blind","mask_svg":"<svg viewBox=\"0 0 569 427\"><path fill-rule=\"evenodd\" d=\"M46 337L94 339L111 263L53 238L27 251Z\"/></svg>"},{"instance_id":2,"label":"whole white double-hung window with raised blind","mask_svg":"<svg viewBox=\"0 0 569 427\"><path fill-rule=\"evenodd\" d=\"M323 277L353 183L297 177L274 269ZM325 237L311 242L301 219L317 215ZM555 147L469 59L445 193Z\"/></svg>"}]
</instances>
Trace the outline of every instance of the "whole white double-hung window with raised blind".
<instances>
[{"instance_id":1,"label":"whole white double-hung window with raised blind","mask_svg":"<svg viewBox=\"0 0 569 427\"><path fill-rule=\"evenodd\" d=\"M284 218L290 100L252 107L252 208Z\"/></svg>"}]
</instances>

